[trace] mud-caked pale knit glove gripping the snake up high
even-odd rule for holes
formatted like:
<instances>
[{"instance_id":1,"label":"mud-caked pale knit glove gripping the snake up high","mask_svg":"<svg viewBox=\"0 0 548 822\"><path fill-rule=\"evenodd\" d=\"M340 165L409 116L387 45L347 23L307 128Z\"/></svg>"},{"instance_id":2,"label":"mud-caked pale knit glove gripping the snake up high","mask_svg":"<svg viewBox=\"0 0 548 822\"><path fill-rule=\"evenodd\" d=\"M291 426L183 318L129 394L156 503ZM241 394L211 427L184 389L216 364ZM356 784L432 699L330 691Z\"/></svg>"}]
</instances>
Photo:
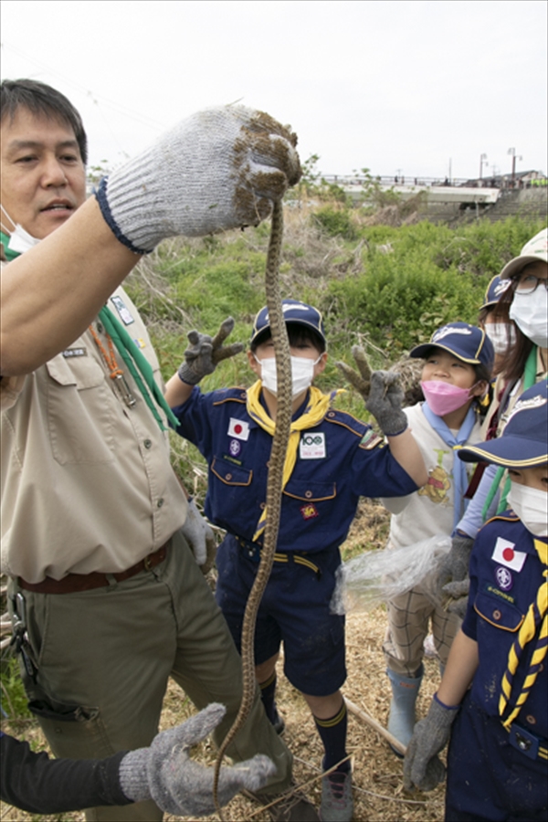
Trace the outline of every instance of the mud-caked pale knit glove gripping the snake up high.
<instances>
[{"instance_id":1,"label":"mud-caked pale knit glove gripping the snake up high","mask_svg":"<svg viewBox=\"0 0 548 822\"><path fill-rule=\"evenodd\" d=\"M102 216L137 253L164 237L257 226L299 181L296 145L290 127L263 111L199 111L101 180Z\"/></svg>"}]
</instances>

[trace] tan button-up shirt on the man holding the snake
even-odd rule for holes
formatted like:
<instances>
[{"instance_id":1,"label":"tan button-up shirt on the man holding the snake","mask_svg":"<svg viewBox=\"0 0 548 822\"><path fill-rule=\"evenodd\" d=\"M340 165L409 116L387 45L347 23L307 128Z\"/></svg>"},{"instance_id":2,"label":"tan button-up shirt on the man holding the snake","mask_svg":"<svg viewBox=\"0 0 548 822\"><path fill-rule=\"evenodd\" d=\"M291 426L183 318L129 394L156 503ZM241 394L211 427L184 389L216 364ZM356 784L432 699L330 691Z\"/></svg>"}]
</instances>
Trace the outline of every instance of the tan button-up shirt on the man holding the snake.
<instances>
[{"instance_id":1,"label":"tan button-up shirt on the man holding the snake","mask_svg":"<svg viewBox=\"0 0 548 822\"><path fill-rule=\"evenodd\" d=\"M123 289L109 308L163 388L148 333ZM108 352L100 322L93 328ZM124 571L184 523L186 501L170 465L167 431L114 353L134 407L117 391L89 330L33 374L0 383L5 574L37 583L69 572Z\"/></svg>"}]
</instances>

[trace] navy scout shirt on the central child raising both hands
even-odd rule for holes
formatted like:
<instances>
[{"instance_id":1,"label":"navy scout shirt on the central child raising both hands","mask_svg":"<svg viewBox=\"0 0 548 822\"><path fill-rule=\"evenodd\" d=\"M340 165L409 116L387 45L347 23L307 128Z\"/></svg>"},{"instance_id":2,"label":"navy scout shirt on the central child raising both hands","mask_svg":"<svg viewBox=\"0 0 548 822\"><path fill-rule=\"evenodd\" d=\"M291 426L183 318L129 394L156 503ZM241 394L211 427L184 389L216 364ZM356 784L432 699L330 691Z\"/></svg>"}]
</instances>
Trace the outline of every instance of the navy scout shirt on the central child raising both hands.
<instances>
[{"instance_id":1,"label":"navy scout shirt on the central child raising both hands","mask_svg":"<svg viewBox=\"0 0 548 822\"><path fill-rule=\"evenodd\" d=\"M302 414L306 403L294 415ZM252 540L266 501L272 437L248 415L246 392L202 394L196 386L176 406L177 432L209 466L205 514L228 532ZM373 429L330 409L300 432L295 468L283 492L279 551L318 552L345 539L360 496L410 494L416 483Z\"/></svg>"}]
</instances>

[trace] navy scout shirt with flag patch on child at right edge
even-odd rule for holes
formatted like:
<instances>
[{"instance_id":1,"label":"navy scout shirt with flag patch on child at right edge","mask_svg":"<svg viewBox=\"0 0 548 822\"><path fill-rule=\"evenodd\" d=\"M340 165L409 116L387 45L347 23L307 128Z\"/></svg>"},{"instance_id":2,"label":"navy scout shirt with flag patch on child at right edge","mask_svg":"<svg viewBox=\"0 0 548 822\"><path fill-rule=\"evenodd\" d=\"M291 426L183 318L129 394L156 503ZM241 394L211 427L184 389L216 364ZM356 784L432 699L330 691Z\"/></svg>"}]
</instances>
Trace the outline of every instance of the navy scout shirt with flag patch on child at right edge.
<instances>
[{"instance_id":1,"label":"navy scout shirt with flag patch on child at right edge","mask_svg":"<svg viewBox=\"0 0 548 822\"><path fill-rule=\"evenodd\" d=\"M471 555L469 607L462 630L478 643L479 649L479 667L472 682L471 699L489 716L499 716L501 680L507 669L508 654L543 583L543 564L532 539L532 534L515 514L506 511L481 529ZM523 649L513 680L512 708L535 645L533 639ZM548 736L547 688L544 659L516 718L519 725L541 738Z\"/></svg>"}]
</instances>

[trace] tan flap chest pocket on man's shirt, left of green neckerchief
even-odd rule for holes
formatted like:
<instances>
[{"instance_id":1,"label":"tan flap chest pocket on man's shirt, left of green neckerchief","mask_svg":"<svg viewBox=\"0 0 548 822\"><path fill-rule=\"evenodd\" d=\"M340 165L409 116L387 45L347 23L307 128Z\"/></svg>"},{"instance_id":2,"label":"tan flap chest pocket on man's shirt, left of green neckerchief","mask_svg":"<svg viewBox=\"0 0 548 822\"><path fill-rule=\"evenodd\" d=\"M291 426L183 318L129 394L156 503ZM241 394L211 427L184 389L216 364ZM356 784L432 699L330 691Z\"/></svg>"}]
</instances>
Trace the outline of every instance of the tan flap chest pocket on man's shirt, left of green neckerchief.
<instances>
[{"instance_id":1,"label":"tan flap chest pocket on man's shirt, left of green neckerchief","mask_svg":"<svg viewBox=\"0 0 548 822\"><path fill-rule=\"evenodd\" d=\"M74 347L49 360L45 367L53 457L60 465L111 462L114 420L119 412L100 364L85 347Z\"/></svg>"}]
</instances>

